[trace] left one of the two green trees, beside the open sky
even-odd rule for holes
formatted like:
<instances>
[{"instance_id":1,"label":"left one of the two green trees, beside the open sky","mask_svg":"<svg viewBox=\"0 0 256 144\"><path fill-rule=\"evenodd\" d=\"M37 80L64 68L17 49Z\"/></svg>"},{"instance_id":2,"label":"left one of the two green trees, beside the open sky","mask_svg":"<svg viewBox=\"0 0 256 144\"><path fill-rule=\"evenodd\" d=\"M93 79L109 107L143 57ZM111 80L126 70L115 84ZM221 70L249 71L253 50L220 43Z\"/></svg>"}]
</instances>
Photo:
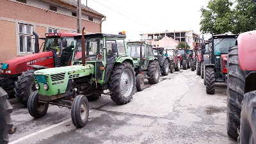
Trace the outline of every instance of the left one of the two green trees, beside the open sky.
<instances>
[{"instance_id":1,"label":"left one of the two green trees, beside the open sky","mask_svg":"<svg viewBox=\"0 0 256 144\"><path fill-rule=\"evenodd\" d=\"M210 0L207 9L201 8L200 10L202 12L200 31L218 35L232 30L234 19L232 4L228 0Z\"/></svg>"}]
</instances>

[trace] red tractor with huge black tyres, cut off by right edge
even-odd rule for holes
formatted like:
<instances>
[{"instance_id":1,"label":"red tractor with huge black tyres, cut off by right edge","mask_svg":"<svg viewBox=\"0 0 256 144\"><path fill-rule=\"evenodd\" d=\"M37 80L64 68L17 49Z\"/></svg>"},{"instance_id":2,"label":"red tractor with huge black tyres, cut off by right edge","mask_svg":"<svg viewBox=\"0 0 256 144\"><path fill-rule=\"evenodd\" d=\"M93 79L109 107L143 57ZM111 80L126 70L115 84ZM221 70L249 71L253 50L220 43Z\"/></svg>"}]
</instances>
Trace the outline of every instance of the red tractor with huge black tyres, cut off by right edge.
<instances>
[{"instance_id":1,"label":"red tractor with huge black tyres, cut off by right edge","mask_svg":"<svg viewBox=\"0 0 256 144\"><path fill-rule=\"evenodd\" d=\"M256 143L255 44L256 31L248 31L228 51L227 133L240 143Z\"/></svg>"}]
</instances>

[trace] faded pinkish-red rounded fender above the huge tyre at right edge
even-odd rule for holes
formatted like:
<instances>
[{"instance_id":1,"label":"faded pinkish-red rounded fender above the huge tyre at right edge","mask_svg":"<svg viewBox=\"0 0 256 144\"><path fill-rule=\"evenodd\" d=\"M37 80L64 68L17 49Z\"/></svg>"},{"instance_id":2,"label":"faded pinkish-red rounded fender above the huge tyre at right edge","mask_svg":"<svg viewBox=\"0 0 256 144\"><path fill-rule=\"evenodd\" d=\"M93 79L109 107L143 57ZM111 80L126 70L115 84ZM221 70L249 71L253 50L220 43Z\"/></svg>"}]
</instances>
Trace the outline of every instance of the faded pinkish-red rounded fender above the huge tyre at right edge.
<instances>
[{"instance_id":1,"label":"faded pinkish-red rounded fender above the huge tyre at right edge","mask_svg":"<svg viewBox=\"0 0 256 144\"><path fill-rule=\"evenodd\" d=\"M237 38L238 60L242 70L256 70L256 31L241 33Z\"/></svg>"}]
</instances>

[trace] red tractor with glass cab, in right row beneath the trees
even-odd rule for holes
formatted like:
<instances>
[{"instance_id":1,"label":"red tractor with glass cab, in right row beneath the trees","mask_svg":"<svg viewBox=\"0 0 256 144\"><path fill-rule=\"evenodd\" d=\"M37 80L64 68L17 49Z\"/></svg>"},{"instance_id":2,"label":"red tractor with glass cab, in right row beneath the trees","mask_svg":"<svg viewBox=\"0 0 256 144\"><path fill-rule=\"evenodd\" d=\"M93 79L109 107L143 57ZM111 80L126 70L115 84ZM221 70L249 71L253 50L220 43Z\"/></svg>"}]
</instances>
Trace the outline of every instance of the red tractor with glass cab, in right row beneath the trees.
<instances>
[{"instance_id":1,"label":"red tractor with glass cab, in right row beneath the trees","mask_svg":"<svg viewBox=\"0 0 256 144\"><path fill-rule=\"evenodd\" d=\"M204 56L204 83L206 85L207 94L214 94L215 83L225 83L227 81L228 48L236 44L237 36L238 35L212 36L209 55Z\"/></svg>"}]
</instances>

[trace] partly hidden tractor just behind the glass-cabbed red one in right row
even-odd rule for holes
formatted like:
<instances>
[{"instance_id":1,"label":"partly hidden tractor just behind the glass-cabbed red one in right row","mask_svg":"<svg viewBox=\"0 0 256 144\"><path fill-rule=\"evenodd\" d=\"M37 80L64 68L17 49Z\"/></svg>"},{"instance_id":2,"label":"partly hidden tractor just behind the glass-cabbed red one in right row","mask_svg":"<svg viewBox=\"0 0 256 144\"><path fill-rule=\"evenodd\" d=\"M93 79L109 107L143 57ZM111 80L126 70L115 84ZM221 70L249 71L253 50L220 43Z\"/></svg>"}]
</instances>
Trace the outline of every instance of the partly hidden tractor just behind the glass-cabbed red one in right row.
<instances>
[{"instance_id":1,"label":"partly hidden tractor just behind the glass-cabbed red one in right row","mask_svg":"<svg viewBox=\"0 0 256 144\"><path fill-rule=\"evenodd\" d=\"M196 74L201 76L202 79L204 79L204 57L209 57L209 45L209 41L204 40L196 58Z\"/></svg>"}]
</instances>

